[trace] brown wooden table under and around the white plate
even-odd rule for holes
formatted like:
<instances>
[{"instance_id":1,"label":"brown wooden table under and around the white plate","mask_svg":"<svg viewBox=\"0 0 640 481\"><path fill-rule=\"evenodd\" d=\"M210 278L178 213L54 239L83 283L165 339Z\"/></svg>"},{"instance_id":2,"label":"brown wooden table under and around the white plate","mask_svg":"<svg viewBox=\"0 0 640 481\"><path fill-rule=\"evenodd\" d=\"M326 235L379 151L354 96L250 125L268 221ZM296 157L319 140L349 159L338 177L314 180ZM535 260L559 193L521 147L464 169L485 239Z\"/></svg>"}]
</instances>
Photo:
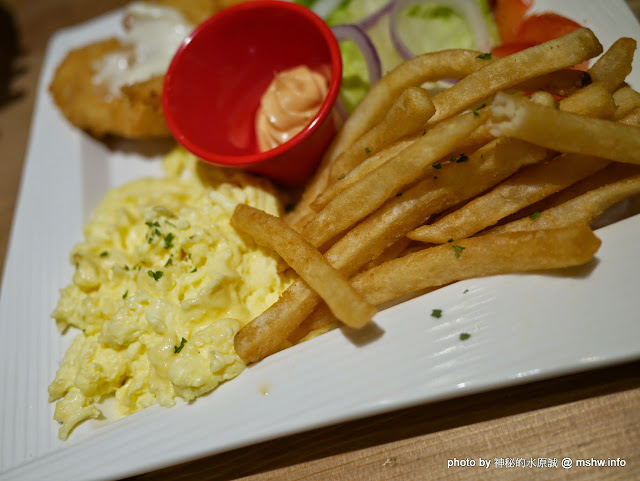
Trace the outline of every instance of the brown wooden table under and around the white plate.
<instances>
[{"instance_id":1,"label":"brown wooden table under and around the white plate","mask_svg":"<svg viewBox=\"0 0 640 481\"><path fill-rule=\"evenodd\" d=\"M0 61L21 47L10 87L0 70L0 265L4 265L34 95L51 34L125 0L5 0ZM640 15L640 0L628 0ZM2 65L0 65L2 67ZM640 340L639 340L640 342ZM625 467L448 469L447 461L602 458ZM508 461L507 461L508 462ZM487 476L490 475L490 476ZM640 362L427 404L319 429L138 480L640 479Z\"/></svg>"}]
</instances>

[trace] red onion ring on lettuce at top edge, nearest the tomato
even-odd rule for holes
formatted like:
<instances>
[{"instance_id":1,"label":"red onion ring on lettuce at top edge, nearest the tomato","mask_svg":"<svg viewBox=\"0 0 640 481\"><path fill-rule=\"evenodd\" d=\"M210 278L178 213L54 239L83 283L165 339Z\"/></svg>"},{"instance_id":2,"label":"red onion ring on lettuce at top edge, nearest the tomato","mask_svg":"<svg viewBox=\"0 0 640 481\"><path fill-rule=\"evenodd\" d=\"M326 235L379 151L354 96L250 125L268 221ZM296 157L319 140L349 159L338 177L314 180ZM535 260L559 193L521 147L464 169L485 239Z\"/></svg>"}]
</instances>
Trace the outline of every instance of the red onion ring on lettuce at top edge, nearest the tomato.
<instances>
[{"instance_id":1,"label":"red onion ring on lettuce at top edge, nearest the tomato","mask_svg":"<svg viewBox=\"0 0 640 481\"><path fill-rule=\"evenodd\" d=\"M471 29L476 49L481 52L491 51L491 38L489 36L487 24L482 16L480 8L474 0L393 0L393 6L391 8L389 18L389 33L391 34L391 40L393 41L394 46L402 58L408 60L415 57L415 53L409 48L404 40L400 38L400 33L397 28L398 16L407 7L429 2L449 7L451 10L462 15Z\"/></svg>"}]
</instances>

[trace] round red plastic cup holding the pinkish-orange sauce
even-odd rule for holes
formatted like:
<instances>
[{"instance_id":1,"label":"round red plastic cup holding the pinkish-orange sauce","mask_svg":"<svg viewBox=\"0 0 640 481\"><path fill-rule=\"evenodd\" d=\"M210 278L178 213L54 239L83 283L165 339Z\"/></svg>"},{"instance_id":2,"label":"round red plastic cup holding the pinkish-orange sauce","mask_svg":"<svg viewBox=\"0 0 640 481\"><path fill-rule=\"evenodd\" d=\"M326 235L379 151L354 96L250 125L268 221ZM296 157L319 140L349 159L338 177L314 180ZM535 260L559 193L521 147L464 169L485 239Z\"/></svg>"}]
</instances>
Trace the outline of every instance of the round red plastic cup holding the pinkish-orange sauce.
<instances>
[{"instance_id":1,"label":"round red plastic cup holding the pinkish-orange sauce","mask_svg":"<svg viewBox=\"0 0 640 481\"><path fill-rule=\"evenodd\" d=\"M260 152L260 99L275 73L299 65L327 77L327 97L299 134ZM341 79L338 43L320 17L295 3L250 1L217 13L184 41L165 76L164 115L176 140L201 159L302 185L335 133Z\"/></svg>"}]
</instances>

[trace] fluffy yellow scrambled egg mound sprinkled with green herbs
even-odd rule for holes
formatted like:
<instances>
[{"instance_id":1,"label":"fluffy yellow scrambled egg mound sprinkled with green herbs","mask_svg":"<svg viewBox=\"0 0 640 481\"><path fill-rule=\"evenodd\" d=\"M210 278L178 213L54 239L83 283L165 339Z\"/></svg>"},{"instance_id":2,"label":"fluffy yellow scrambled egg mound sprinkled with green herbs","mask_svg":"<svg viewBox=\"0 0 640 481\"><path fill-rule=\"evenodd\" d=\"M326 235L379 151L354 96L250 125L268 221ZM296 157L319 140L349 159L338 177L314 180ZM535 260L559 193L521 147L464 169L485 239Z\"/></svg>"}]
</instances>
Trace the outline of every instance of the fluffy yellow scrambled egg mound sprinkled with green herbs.
<instances>
[{"instance_id":1,"label":"fluffy yellow scrambled egg mound sprinkled with green herbs","mask_svg":"<svg viewBox=\"0 0 640 481\"><path fill-rule=\"evenodd\" d=\"M238 203L278 214L266 184L181 149L164 167L107 193L71 253L73 283L52 314L61 331L81 330L49 386L61 439L102 417L108 397L126 416L236 377L236 332L291 282L229 223Z\"/></svg>"}]
</instances>

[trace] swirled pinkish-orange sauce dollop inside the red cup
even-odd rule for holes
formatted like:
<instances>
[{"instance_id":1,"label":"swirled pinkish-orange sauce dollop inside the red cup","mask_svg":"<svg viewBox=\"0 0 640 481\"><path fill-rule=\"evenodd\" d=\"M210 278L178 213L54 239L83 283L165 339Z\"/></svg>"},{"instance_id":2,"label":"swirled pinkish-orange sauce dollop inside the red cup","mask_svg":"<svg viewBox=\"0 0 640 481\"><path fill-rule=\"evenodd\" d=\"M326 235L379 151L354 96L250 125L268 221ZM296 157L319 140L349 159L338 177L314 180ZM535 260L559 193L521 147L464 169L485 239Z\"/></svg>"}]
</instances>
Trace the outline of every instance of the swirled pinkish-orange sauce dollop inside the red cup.
<instances>
[{"instance_id":1,"label":"swirled pinkish-orange sauce dollop inside the red cup","mask_svg":"<svg viewBox=\"0 0 640 481\"><path fill-rule=\"evenodd\" d=\"M327 80L304 65L276 74L256 113L260 151L271 150L300 133L322 107L327 92Z\"/></svg>"}]
</instances>

